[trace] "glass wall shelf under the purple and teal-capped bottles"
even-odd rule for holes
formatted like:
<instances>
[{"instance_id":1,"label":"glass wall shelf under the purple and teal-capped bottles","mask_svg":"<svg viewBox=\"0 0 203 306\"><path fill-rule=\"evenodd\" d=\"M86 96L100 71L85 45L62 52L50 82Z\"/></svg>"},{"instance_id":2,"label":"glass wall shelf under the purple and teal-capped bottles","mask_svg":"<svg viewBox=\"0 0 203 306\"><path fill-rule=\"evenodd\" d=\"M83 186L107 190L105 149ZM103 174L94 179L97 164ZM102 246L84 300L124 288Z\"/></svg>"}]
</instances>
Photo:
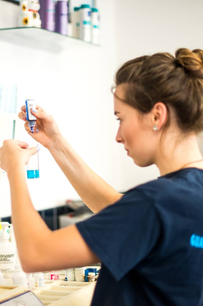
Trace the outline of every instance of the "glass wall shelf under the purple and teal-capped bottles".
<instances>
[{"instance_id":1,"label":"glass wall shelf under the purple and teal-capped bottles","mask_svg":"<svg viewBox=\"0 0 203 306\"><path fill-rule=\"evenodd\" d=\"M82 39L35 27L0 29L0 42L1 41L52 53L60 53L64 48L98 47Z\"/></svg>"}]
</instances>

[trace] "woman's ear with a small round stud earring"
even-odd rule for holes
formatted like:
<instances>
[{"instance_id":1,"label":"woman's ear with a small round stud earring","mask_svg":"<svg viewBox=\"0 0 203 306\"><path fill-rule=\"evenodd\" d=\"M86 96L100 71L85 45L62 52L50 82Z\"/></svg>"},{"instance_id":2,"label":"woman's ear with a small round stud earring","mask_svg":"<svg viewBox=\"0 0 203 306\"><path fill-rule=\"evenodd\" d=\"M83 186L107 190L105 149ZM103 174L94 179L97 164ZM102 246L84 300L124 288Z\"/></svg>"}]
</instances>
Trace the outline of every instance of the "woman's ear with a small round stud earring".
<instances>
[{"instance_id":1,"label":"woman's ear with a small round stud earring","mask_svg":"<svg viewBox=\"0 0 203 306\"><path fill-rule=\"evenodd\" d=\"M153 130L160 130L167 120L168 110L166 105L163 102L157 102L153 106L151 113Z\"/></svg>"}]
</instances>

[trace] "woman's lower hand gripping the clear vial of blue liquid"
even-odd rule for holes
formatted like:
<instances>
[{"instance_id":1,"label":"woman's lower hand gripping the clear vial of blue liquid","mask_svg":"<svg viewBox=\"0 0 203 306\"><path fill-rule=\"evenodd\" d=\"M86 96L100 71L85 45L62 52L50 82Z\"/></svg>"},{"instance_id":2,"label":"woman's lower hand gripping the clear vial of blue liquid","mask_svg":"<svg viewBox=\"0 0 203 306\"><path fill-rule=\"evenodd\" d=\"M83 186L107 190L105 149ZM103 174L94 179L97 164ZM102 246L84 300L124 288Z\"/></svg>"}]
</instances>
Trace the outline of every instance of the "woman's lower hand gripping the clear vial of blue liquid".
<instances>
[{"instance_id":1,"label":"woman's lower hand gripping the clear vial of blue liquid","mask_svg":"<svg viewBox=\"0 0 203 306\"><path fill-rule=\"evenodd\" d=\"M39 150L39 149L38 149ZM37 152L37 147L28 149L28 144L19 140L4 140L0 148L0 166L7 173L15 168L22 168L28 163L31 155Z\"/></svg>"}]
</instances>

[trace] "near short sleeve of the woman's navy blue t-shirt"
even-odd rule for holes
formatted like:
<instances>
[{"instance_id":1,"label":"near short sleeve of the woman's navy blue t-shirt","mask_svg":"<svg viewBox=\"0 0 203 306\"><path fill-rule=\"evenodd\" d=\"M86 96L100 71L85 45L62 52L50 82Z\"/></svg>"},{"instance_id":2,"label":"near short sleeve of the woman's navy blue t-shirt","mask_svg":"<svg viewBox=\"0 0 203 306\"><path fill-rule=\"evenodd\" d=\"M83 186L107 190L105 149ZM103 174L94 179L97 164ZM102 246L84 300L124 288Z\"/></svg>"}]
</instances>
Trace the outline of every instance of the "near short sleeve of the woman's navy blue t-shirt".
<instances>
[{"instance_id":1,"label":"near short sleeve of the woman's navy blue t-shirt","mask_svg":"<svg viewBox=\"0 0 203 306\"><path fill-rule=\"evenodd\" d=\"M146 258L161 232L152 200L136 189L76 226L117 281Z\"/></svg>"}]
</instances>

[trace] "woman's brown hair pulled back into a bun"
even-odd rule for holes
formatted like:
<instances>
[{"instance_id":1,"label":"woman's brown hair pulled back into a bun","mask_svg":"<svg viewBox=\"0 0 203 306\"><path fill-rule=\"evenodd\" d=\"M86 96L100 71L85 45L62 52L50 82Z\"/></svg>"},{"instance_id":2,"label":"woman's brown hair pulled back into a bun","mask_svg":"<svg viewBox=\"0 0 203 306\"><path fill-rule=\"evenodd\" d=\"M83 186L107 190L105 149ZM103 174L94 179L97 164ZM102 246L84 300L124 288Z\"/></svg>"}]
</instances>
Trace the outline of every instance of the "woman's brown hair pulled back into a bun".
<instances>
[{"instance_id":1,"label":"woman's brown hair pulled back into a bun","mask_svg":"<svg viewBox=\"0 0 203 306\"><path fill-rule=\"evenodd\" d=\"M177 124L183 132L203 130L203 51L176 50L156 53L126 62L118 69L115 85L124 84L123 102L142 114L152 110L157 102L173 108ZM115 95L115 93L114 93ZM118 97L117 97L118 98Z\"/></svg>"}]
</instances>

